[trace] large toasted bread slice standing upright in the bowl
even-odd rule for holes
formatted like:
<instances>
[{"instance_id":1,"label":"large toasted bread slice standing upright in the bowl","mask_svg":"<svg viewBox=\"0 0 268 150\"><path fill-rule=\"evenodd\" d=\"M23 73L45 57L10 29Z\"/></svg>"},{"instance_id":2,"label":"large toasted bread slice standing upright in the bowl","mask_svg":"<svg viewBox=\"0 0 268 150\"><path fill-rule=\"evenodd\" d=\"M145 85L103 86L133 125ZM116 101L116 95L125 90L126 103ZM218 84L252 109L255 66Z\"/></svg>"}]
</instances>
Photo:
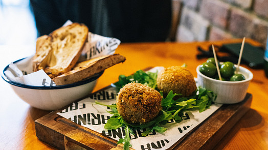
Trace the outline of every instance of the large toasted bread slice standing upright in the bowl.
<instances>
[{"instance_id":1,"label":"large toasted bread slice standing upright in the bowl","mask_svg":"<svg viewBox=\"0 0 268 150\"><path fill-rule=\"evenodd\" d=\"M43 69L51 78L70 71L78 61L87 35L87 26L80 23L56 29L40 43L38 51L41 52L37 54L47 55L33 62L34 71Z\"/></svg>"}]
</instances>

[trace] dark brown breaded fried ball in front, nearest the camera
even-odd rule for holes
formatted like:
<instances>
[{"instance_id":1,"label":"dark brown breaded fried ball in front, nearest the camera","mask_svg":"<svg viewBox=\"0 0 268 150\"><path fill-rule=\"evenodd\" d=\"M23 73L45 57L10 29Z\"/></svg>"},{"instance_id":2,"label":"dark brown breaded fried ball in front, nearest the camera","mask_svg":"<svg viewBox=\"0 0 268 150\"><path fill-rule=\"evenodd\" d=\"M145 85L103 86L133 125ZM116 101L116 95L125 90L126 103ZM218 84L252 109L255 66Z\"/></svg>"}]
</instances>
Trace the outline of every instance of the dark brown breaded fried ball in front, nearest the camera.
<instances>
[{"instance_id":1,"label":"dark brown breaded fried ball in front, nearest the camera","mask_svg":"<svg viewBox=\"0 0 268 150\"><path fill-rule=\"evenodd\" d=\"M128 83L120 89L116 104L126 122L145 124L162 110L161 101L161 94L155 89L140 83Z\"/></svg>"}]
</instances>

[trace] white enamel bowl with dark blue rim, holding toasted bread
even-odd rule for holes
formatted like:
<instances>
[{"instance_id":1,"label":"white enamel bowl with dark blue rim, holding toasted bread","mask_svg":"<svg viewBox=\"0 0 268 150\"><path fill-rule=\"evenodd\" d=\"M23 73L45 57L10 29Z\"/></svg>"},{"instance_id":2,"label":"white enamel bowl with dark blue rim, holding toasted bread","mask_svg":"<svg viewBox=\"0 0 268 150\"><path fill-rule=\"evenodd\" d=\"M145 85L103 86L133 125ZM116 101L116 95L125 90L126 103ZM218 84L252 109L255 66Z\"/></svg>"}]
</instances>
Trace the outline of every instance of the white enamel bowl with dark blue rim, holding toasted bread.
<instances>
[{"instance_id":1,"label":"white enamel bowl with dark blue rim, holding toasted bread","mask_svg":"<svg viewBox=\"0 0 268 150\"><path fill-rule=\"evenodd\" d=\"M13 63L15 64L21 60ZM10 81L4 73L8 68L9 66L1 72L2 78L11 85L14 92L22 100L32 107L42 110L57 110L87 96L93 91L97 79L103 74L101 72L92 78L66 85L30 86Z\"/></svg>"}]
</instances>

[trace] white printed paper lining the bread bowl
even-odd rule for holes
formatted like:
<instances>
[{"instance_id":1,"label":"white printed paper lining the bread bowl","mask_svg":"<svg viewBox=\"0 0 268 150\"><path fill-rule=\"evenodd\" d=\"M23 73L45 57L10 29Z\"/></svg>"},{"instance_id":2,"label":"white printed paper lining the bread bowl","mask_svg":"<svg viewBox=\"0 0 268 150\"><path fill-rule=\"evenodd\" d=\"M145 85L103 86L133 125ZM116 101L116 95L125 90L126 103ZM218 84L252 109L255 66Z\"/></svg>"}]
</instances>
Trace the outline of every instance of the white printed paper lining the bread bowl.
<instances>
[{"instance_id":1,"label":"white printed paper lining the bread bowl","mask_svg":"<svg viewBox=\"0 0 268 150\"><path fill-rule=\"evenodd\" d=\"M72 24L68 20L63 26ZM100 35L88 32L88 39L82 50L78 62L85 61L95 57L114 54L116 48L121 43L116 38L103 37ZM32 57L25 58L13 64L9 64L9 68L4 72L6 77L13 82L31 86L55 86L56 84L51 78L42 70L33 72Z\"/></svg>"}]
</instances>

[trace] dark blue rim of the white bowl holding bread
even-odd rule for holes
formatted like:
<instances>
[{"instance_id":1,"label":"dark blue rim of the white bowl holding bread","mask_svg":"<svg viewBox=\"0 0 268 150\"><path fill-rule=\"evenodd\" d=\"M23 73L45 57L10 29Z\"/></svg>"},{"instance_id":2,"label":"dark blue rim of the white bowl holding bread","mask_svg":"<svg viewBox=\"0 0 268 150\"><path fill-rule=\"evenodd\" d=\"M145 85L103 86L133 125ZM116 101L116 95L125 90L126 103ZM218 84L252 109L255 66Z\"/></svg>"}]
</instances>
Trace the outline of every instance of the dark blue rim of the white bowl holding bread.
<instances>
[{"instance_id":1,"label":"dark blue rim of the white bowl holding bread","mask_svg":"<svg viewBox=\"0 0 268 150\"><path fill-rule=\"evenodd\" d=\"M13 62L14 64L23 60L25 58L21 58L21 59L18 59L17 61ZM5 71L9 68L9 65L6 66L4 68L4 70L1 72L1 77L6 81L8 82L9 84L12 84L12 85L15 85L15 86L19 86L19 87L24 87L24 88L31 88L31 89L61 89L61 88L70 88L70 87L74 87L74 86L79 86L79 85L83 85L83 84L86 84L86 83L89 83L89 82L92 82L94 80L97 80L102 74L104 71L100 72L100 73L97 73L96 75L94 75L94 77L91 77L91 78L86 78L82 81L79 81L79 82L75 82L75 83L72 83L72 84L65 84L65 85L55 85L55 86L32 86L32 85L26 85L26 84L21 84L21 83L17 83L17 82L13 82L13 81L10 81L6 75L5 75Z\"/></svg>"}]
</instances>

